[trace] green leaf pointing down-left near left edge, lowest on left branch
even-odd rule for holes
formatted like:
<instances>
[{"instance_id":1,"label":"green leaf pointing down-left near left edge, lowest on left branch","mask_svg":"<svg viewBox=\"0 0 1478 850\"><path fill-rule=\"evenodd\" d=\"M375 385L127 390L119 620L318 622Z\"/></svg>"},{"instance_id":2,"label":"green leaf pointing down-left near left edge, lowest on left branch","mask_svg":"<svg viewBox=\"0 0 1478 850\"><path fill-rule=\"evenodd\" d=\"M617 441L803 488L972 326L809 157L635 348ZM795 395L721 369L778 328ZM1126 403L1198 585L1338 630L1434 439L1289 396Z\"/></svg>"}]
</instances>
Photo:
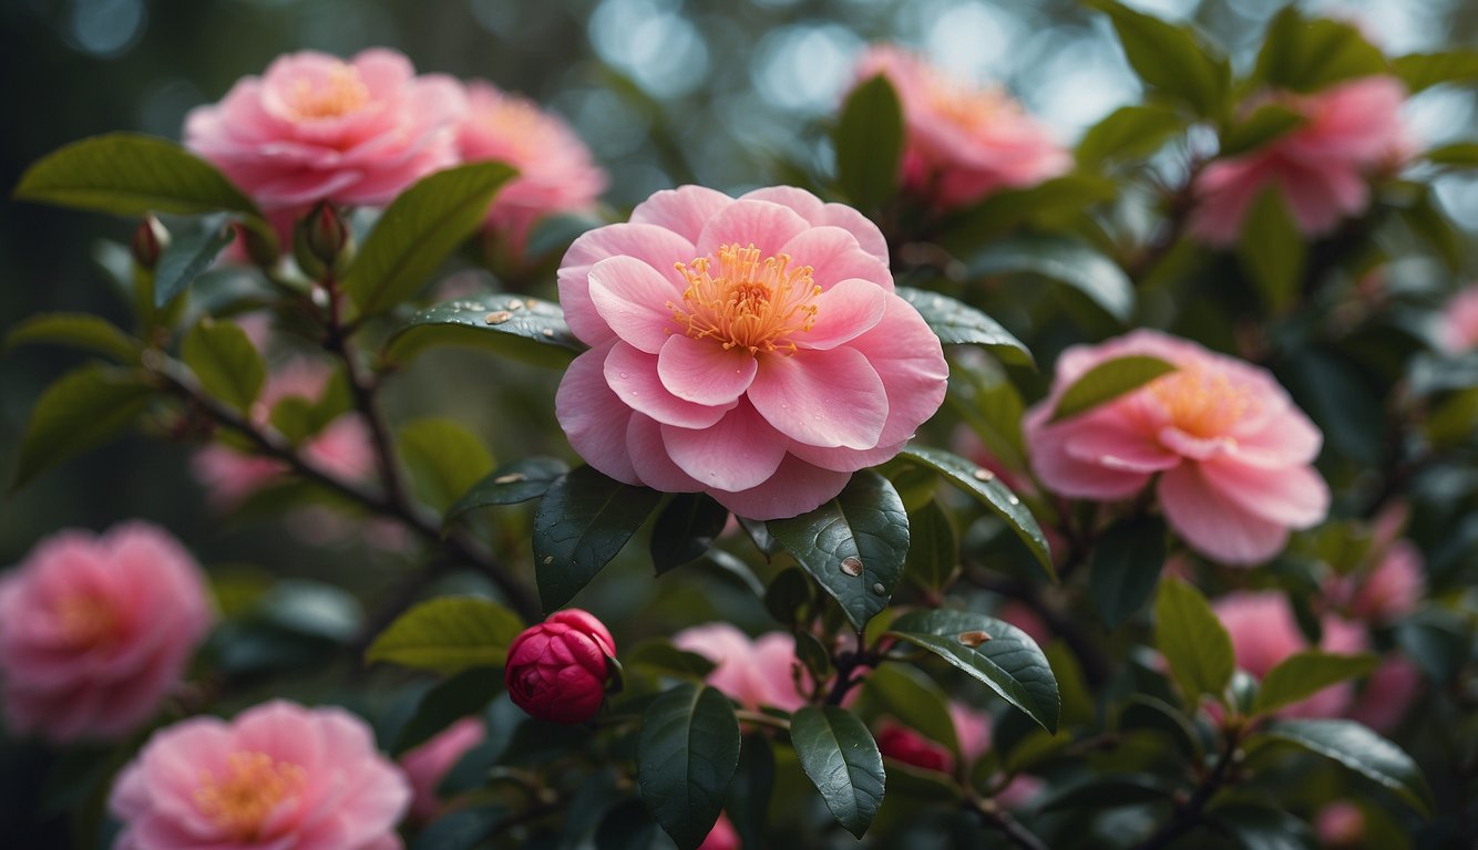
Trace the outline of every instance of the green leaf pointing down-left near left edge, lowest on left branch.
<instances>
[{"instance_id":1,"label":"green leaf pointing down-left near left edge, lowest on left branch","mask_svg":"<svg viewBox=\"0 0 1478 850\"><path fill-rule=\"evenodd\" d=\"M31 410L12 488L117 437L154 393L143 373L114 366L89 364L58 378Z\"/></svg>"}]
</instances>

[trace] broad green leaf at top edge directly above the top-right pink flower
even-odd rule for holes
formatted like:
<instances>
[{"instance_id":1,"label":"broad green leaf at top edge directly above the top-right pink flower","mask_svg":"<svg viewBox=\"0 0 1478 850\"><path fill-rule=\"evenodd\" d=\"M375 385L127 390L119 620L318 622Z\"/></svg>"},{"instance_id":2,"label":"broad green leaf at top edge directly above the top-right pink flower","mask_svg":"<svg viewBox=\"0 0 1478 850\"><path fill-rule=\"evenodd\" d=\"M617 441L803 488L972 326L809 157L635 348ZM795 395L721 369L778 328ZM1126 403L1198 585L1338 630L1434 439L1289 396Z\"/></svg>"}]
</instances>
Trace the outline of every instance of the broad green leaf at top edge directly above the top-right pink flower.
<instances>
[{"instance_id":1,"label":"broad green leaf at top edge directly above the top-right pink flower","mask_svg":"<svg viewBox=\"0 0 1478 850\"><path fill-rule=\"evenodd\" d=\"M1268 24L1252 80L1276 89L1318 91L1333 83L1386 74L1385 55L1344 21L1310 21L1292 4Z\"/></svg>"}]
</instances>

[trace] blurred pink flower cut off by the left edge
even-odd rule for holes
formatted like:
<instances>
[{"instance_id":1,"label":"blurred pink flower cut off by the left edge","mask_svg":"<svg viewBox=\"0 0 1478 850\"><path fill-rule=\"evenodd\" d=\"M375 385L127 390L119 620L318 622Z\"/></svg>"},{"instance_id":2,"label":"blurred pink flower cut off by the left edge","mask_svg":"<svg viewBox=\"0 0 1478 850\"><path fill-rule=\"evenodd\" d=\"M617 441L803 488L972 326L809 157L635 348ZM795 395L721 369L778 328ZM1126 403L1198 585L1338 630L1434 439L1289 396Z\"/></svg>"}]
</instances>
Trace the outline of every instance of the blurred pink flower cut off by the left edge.
<instances>
[{"instance_id":1,"label":"blurred pink flower cut off by the left edge","mask_svg":"<svg viewBox=\"0 0 1478 850\"><path fill-rule=\"evenodd\" d=\"M0 580L0 679L15 732L58 742L143 726L214 621L200 567L145 522L62 531Z\"/></svg>"}]
</instances>

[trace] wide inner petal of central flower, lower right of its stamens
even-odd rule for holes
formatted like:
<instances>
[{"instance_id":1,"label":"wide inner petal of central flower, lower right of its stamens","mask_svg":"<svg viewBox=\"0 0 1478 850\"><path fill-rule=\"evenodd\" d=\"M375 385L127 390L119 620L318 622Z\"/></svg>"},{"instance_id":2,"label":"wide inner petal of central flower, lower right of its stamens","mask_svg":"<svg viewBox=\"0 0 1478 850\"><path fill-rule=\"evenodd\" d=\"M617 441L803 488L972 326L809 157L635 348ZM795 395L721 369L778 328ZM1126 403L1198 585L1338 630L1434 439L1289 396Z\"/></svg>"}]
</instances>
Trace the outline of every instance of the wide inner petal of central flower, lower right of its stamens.
<instances>
[{"instance_id":1,"label":"wide inner petal of central flower, lower right of its stamens","mask_svg":"<svg viewBox=\"0 0 1478 850\"><path fill-rule=\"evenodd\" d=\"M811 446L872 449L888 419L882 379L854 348L767 356L748 398L782 434Z\"/></svg>"}]
</instances>

